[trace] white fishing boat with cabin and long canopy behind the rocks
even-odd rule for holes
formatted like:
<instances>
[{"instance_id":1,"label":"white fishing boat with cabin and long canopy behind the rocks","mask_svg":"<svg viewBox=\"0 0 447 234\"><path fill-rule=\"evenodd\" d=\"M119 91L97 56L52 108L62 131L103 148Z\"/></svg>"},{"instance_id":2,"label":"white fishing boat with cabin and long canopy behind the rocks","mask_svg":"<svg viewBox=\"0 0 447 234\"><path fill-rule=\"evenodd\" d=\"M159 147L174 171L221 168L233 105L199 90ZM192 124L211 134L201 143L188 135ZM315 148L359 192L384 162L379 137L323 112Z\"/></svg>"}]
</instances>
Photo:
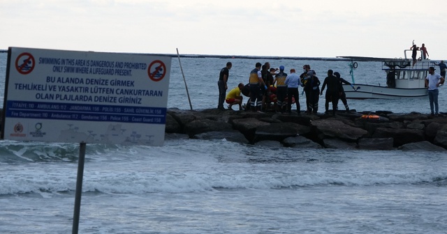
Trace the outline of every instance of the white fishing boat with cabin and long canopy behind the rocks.
<instances>
[{"instance_id":1,"label":"white fishing boat with cabin and long canopy behind the rocks","mask_svg":"<svg viewBox=\"0 0 447 234\"><path fill-rule=\"evenodd\" d=\"M428 95L428 89L425 87L425 77L427 77L430 59L419 59L412 66L411 49L404 50L404 58L400 59L380 59L367 57L343 57L351 59L351 77L354 88L344 85L346 98L349 99L398 99L398 98L416 98ZM410 55L409 59L406 56ZM421 52L422 53L422 52ZM420 58L423 58L422 54ZM353 69L357 68L358 61L381 61L382 70L386 72L387 86L375 86L370 84L355 84L353 78Z\"/></svg>"}]
</instances>

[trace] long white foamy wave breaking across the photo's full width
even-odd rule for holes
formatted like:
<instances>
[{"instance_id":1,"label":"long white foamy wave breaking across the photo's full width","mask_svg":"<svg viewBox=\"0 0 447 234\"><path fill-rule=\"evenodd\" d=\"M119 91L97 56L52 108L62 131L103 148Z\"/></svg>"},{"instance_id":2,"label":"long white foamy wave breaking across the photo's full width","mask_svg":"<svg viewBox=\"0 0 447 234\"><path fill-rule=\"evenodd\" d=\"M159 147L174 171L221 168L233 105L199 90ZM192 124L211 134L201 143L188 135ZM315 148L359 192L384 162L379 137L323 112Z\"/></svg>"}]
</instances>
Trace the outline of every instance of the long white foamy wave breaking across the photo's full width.
<instances>
[{"instance_id":1,"label":"long white foamy wave breaking across the photo's full width","mask_svg":"<svg viewBox=\"0 0 447 234\"><path fill-rule=\"evenodd\" d=\"M74 170L74 168L72 168ZM15 176L2 178L0 195L46 194L57 196L75 191L75 175L40 177ZM351 174L331 176L324 173L296 175L205 175L170 173L85 173L83 192L100 194L201 193L220 189L300 189L302 187L360 187L386 185L447 185L447 173ZM43 196L43 195L42 195Z\"/></svg>"}]
</instances>

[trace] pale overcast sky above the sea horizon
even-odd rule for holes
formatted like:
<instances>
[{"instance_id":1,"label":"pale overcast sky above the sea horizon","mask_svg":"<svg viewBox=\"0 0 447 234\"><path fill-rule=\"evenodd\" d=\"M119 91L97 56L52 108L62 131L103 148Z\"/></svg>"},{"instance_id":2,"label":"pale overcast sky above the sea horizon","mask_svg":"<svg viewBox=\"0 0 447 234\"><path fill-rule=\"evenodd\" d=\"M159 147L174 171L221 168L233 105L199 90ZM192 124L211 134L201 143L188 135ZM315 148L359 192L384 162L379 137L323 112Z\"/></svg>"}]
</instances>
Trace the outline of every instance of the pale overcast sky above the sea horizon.
<instances>
[{"instance_id":1,"label":"pale overcast sky above the sea horizon","mask_svg":"<svg viewBox=\"0 0 447 234\"><path fill-rule=\"evenodd\" d=\"M446 0L0 0L0 22L0 49L447 59Z\"/></svg>"}]
</instances>

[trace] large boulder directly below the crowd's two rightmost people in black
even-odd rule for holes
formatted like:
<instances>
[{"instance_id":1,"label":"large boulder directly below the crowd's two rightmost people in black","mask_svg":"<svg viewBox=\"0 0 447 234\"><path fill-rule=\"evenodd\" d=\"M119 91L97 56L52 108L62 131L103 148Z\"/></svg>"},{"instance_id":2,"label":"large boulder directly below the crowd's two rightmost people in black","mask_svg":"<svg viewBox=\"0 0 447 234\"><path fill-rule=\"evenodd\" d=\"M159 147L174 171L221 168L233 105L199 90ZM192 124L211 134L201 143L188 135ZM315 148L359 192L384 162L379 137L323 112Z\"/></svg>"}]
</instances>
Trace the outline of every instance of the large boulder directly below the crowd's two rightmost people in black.
<instances>
[{"instance_id":1,"label":"large boulder directly below the crowd's two rightmost people in black","mask_svg":"<svg viewBox=\"0 0 447 234\"><path fill-rule=\"evenodd\" d=\"M334 118L315 120L312 122L312 126L316 129L316 133L320 139L329 137L344 139L346 141L357 141L357 139L368 133L366 130L346 125L342 121Z\"/></svg>"}]
</instances>

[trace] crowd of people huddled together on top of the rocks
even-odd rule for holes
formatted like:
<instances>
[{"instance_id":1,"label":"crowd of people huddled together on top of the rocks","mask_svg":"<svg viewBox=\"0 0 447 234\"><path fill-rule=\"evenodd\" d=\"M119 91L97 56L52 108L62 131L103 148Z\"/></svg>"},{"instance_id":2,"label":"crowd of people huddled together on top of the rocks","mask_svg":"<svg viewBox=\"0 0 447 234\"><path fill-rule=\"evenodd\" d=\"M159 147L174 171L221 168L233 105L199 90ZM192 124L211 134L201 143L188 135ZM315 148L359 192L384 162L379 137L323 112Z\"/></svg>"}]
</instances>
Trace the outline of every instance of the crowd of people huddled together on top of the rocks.
<instances>
[{"instance_id":1,"label":"crowd of people huddled together on top of the rocks","mask_svg":"<svg viewBox=\"0 0 447 234\"><path fill-rule=\"evenodd\" d=\"M251 111L272 110L278 113L291 114L292 104L296 104L296 110L300 115L300 92L299 87L303 87L303 93L306 97L307 114L316 114L318 111L319 96L323 95L323 91L327 86L325 93L325 113L329 113L329 102L332 102L332 114L337 111L338 101L342 100L344 107L349 111L346 101L343 84L351 83L343 79L339 72L328 70L328 77L323 81L320 91L321 82L316 76L316 72L311 70L310 65L303 66L301 75L296 73L294 68L290 69L287 74L284 66L279 68L270 68L270 63L256 63L255 68L251 70L248 84L238 84L227 95L226 90L229 70L232 64L228 62L225 68L221 69L219 75L219 103L218 109L224 110L223 102L228 104L228 109L232 109L233 105L239 105L239 109L247 109ZM242 107L242 95L249 98L247 105ZM273 104L272 104L273 102Z\"/></svg>"}]
</instances>

